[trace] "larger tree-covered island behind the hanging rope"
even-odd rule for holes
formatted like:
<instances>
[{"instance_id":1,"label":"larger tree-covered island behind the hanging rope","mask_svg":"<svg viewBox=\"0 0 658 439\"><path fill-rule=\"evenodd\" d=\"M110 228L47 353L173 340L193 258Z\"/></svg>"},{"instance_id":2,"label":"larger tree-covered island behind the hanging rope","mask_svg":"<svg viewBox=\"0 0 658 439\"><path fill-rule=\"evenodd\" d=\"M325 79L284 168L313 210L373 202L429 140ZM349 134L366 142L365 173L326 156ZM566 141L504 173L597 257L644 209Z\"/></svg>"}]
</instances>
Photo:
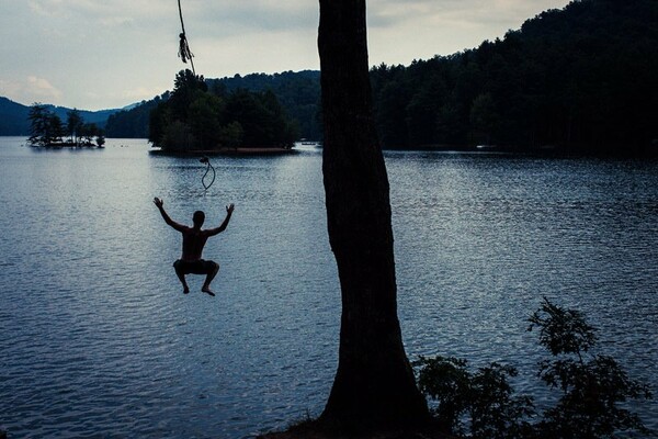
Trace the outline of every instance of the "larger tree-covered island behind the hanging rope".
<instances>
[{"instance_id":1,"label":"larger tree-covered island behind the hanging rope","mask_svg":"<svg viewBox=\"0 0 658 439\"><path fill-rule=\"evenodd\" d=\"M208 89L203 76L182 70L150 112L148 140L163 154L281 154L297 137L272 91Z\"/></svg>"}]
</instances>

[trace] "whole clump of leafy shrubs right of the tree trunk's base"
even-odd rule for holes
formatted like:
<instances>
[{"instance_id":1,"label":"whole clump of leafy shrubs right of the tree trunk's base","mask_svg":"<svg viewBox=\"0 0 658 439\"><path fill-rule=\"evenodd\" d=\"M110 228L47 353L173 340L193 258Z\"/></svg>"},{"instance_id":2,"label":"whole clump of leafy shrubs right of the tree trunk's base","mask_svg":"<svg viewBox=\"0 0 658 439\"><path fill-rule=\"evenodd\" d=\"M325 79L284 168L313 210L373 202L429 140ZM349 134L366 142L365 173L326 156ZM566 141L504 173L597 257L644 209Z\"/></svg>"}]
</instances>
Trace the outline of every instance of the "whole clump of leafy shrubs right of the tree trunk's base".
<instances>
[{"instance_id":1,"label":"whole clump of leafy shrubs right of the tree trunk's base","mask_svg":"<svg viewBox=\"0 0 658 439\"><path fill-rule=\"evenodd\" d=\"M421 357L415 362L418 385L435 403L434 416L447 431L483 439L598 439L617 431L654 436L621 406L650 398L648 387L611 357L590 353L595 328L581 313L544 299L529 320L529 330L540 329L540 344L552 354L540 362L538 376L560 391L556 404L535 420L532 398L514 396L509 384L514 368L494 362L473 373L466 360Z\"/></svg>"}]
</instances>

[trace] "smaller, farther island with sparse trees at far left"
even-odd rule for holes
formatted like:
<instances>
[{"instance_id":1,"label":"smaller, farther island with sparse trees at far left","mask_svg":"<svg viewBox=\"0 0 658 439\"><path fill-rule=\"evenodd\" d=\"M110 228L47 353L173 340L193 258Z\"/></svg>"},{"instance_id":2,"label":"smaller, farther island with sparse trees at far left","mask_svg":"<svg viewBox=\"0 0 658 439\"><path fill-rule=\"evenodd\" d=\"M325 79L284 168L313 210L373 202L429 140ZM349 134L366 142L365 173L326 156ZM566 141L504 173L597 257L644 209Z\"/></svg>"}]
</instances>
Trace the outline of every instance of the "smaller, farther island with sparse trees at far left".
<instances>
[{"instance_id":1,"label":"smaller, farther island with sparse trees at far left","mask_svg":"<svg viewBox=\"0 0 658 439\"><path fill-rule=\"evenodd\" d=\"M99 147L105 144L103 131L94 123L86 123L76 109L67 113L66 124L48 106L34 103L27 115L31 146L47 148Z\"/></svg>"}]
</instances>

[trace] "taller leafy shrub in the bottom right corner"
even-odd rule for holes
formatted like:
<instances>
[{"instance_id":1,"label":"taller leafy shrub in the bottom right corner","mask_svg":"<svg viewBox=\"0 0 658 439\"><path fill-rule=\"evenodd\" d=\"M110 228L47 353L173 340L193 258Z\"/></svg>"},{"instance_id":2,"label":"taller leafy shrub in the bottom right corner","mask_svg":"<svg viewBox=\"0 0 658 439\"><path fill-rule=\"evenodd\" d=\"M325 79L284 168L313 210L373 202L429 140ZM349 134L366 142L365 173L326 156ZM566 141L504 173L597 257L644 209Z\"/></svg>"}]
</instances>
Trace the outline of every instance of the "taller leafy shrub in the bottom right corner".
<instances>
[{"instance_id":1,"label":"taller leafy shrub in the bottom right corner","mask_svg":"<svg viewBox=\"0 0 658 439\"><path fill-rule=\"evenodd\" d=\"M639 417L620 407L628 399L650 398L648 387L628 378L611 357L589 354L595 329L582 314L563 309L544 297L531 318L540 344L554 356L540 363L540 378L561 391L557 405L545 413L540 428L558 438L608 438L616 430L649 431Z\"/></svg>"}]
</instances>

